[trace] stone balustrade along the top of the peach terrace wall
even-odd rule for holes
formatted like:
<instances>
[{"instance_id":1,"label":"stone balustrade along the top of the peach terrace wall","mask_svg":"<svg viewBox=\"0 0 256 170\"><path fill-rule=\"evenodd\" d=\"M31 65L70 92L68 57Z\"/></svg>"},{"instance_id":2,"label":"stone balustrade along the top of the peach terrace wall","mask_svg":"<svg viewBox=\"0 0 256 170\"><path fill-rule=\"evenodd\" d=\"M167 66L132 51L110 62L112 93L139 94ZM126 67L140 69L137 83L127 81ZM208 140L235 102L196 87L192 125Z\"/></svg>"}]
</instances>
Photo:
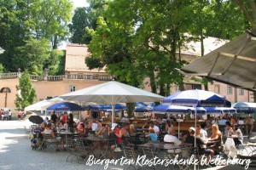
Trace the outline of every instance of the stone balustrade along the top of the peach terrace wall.
<instances>
[{"instance_id":1,"label":"stone balustrade along the top of the peach terrace wall","mask_svg":"<svg viewBox=\"0 0 256 170\"><path fill-rule=\"evenodd\" d=\"M17 78L22 75L21 72L10 72L10 73L0 73L0 79ZM82 75L82 74L66 74L61 76L47 76L44 77L38 75L30 75L32 80L47 80L47 81L62 81L67 80L99 80L99 81L110 81L113 79L112 76L108 75Z\"/></svg>"}]
</instances>

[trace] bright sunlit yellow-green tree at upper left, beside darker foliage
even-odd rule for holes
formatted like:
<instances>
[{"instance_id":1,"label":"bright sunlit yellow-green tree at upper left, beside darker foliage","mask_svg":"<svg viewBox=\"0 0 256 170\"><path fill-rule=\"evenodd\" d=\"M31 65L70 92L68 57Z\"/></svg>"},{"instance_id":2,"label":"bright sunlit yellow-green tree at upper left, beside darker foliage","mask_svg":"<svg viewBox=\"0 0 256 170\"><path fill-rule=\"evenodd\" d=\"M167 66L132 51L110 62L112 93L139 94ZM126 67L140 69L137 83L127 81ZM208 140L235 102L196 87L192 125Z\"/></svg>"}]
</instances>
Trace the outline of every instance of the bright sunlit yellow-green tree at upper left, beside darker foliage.
<instances>
[{"instance_id":1,"label":"bright sunlit yellow-green tree at upper left, beside darker foliage","mask_svg":"<svg viewBox=\"0 0 256 170\"><path fill-rule=\"evenodd\" d=\"M26 12L31 15L29 26L34 37L46 38L56 49L68 35L67 24L72 17L70 0L31 0Z\"/></svg>"}]
</instances>

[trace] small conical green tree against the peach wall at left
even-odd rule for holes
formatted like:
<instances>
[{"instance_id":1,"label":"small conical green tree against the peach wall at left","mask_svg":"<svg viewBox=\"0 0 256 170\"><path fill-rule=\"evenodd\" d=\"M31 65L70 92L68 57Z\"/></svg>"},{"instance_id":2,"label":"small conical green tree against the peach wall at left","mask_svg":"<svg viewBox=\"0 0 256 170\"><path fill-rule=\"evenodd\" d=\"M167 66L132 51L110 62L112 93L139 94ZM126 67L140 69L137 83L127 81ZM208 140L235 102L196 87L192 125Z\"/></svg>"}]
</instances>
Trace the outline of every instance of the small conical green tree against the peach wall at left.
<instances>
[{"instance_id":1,"label":"small conical green tree against the peach wall at left","mask_svg":"<svg viewBox=\"0 0 256 170\"><path fill-rule=\"evenodd\" d=\"M16 94L15 105L21 111L26 106L32 105L36 98L36 90L32 87L32 81L28 71L24 71L19 80L19 85L16 86L20 94Z\"/></svg>"}]
</instances>

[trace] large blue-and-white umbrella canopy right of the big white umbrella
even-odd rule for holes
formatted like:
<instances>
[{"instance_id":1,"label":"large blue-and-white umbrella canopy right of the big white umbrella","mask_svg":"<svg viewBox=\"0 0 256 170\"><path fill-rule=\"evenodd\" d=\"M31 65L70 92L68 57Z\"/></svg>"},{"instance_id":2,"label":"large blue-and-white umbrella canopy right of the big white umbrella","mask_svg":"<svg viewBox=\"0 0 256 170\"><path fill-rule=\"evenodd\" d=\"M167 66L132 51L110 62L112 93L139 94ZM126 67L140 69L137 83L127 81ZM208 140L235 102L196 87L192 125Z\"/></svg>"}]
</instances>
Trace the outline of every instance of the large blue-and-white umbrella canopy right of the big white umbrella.
<instances>
[{"instance_id":1,"label":"large blue-and-white umbrella canopy right of the big white umbrella","mask_svg":"<svg viewBox=\"0 0 256 170\"><path fill-rule=\"evenodd\" d=\"M177 92L163 99L164 105L183 105L183 106L229 106L230 101L218 94L205 90L186 90Z\"/></svg>"}]
</instances>

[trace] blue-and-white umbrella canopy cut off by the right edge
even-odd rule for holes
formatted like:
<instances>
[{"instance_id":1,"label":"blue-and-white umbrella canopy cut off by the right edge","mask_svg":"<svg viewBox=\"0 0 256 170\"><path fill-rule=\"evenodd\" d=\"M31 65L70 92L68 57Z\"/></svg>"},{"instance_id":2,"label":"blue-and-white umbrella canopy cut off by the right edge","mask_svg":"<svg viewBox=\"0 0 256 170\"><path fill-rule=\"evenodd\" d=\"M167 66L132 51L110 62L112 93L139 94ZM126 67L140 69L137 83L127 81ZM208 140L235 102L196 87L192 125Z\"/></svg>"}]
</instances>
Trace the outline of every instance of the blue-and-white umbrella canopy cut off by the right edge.
<instances>
[{"instance_id":1,"label":"blue-and-white umbrella canopy cut off by the right edge","mask_svg":"<svg viewBox=\"0 0 256 170\"><path fill-rule=\"evenodd\" d=\"M232 107L236 108L237 113L253 114L256 112L256 103L238 102L232 104Z\"/></svg>"}]
</instances>

